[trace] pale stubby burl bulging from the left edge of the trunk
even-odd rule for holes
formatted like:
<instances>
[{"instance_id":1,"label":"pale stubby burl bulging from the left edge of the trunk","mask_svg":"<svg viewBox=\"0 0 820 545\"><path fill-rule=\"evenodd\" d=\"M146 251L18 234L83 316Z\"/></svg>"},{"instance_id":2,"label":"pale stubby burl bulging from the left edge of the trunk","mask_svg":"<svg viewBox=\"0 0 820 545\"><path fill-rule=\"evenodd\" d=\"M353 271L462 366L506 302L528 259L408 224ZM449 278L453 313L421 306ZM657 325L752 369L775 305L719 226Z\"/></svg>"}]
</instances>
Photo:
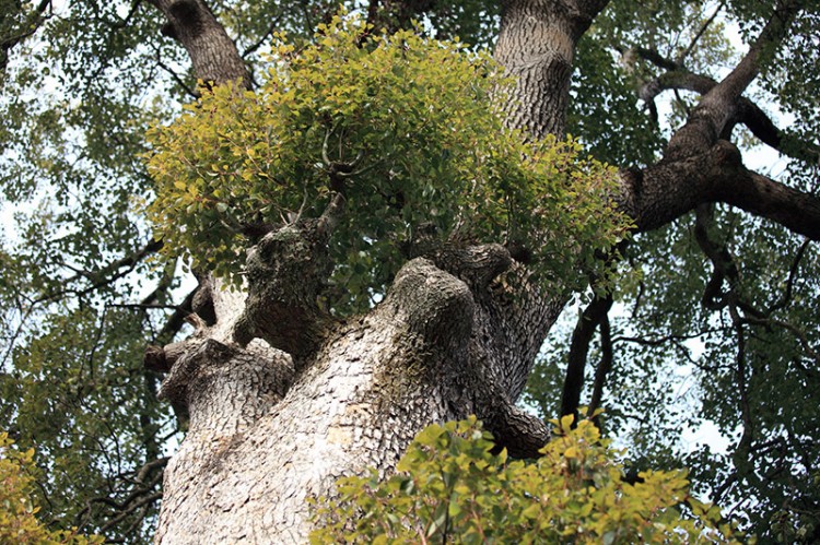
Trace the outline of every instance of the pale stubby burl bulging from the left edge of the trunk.
<instances>
[{"instance_id":1,"label":"pale stubby burl bulging from the left edge of the trunk","mask_svg":"<svg viewBox=\"0 0 820 545\"><path fill-rule=\"evenodd\" d=\"M189 434L241 431L278 403L293 382L289 358L262 343L247 349L212 339L186 344L159 396L187 408Z\"/></svg>"}]
</instances>

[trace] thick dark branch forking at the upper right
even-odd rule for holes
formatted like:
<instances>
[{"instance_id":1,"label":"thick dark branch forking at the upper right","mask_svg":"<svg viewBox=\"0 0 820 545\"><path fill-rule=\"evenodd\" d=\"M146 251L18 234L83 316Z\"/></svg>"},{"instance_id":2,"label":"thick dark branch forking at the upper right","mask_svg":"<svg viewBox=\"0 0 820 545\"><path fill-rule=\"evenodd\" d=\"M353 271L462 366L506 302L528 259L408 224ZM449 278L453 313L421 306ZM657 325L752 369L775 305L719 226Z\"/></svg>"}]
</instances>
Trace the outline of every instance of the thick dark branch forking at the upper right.
<instances>
[{"instance_id":1,"label":"thick dark branch forking at the upper right","mask_svg":"<svg viewBox=\"0 0 820 545\"><path fill-rule=\"evenodd\" d=\"M722 82L688 80L705 94L672 135L663 159L642 171L621 173L619 206L639 230L665 225L700 204L724 202L820 238L820 200L749 170L737 147L721 140L743 110L741 94L760 71L763 51L783 40L798 11L797 2L781 3L746 57Z\"/></svg>"}]
</instances>

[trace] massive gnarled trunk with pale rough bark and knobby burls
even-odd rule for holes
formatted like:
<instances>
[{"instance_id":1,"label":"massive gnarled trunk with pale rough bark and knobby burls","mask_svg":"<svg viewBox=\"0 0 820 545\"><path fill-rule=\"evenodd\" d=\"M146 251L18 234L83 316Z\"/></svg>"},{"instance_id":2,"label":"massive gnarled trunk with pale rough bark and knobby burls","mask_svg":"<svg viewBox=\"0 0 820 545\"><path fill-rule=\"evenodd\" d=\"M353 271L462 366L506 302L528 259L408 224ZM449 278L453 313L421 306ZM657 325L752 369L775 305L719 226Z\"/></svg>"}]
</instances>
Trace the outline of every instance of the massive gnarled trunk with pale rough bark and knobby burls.
<instances>
[{"instance_id":1,"label":"massive gnarled trunk with pale rough bark and knobby burls","mask_svg":"<svg viewBox=\"0 0 820 545\"><path fill-rule=\"evenodd\" d=\"M177 17L173 36L199 55L184 40L197 33L179 26L181 10L156 3ZM515 34L515 24L505 28ZM559 43L571 50L573 39ZM569 60L539 86L538 100L564 104ZM526 60L507 62L515 71ZM540 127L535 137L561 132L563 107L554 114L552 103L542 106L554 118L549 128L535 110L514 122ZM186 342L152 353L171 367L161 393L190 414L165 470L156 543L303 542L307 497L331 494L337 477L367 465L389 471L433 422L477 414L519 455L547 441L544 424L514 402L563 298L499 282L526 274L502 246L419 241L385 300L338 322L316 305L328 230L320 220L267 235L249 253L247 301L211 289L215 322L209 317L212 325L200 321Z\"/></svg>"}]
</instances>

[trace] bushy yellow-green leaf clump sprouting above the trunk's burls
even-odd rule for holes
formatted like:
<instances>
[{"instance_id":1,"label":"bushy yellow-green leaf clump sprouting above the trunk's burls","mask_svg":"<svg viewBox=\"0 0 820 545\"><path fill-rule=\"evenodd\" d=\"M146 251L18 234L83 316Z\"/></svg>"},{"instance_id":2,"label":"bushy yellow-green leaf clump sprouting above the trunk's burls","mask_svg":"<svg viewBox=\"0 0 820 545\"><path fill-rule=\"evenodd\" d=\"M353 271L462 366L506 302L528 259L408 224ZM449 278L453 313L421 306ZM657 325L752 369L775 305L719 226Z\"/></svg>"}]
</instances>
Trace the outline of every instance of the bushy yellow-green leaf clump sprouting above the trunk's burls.
<instances>
[{"instance_id":1,"label":"bushy yellow-green leaf clump sprouting above the trunk's burls","mask_svg":"<svg viewBox=\"0 0 820 545\"><path fill-rule=\"evenodd\" d=\"M509 82L485 52L365 31L336 19L315 45L283 42L258 92L216 87L150 131L149 212L167 251L237 280L244 226L317 217L340 191L333 282L360 308L422 225L523 242L544 282L581 283L579 265L623 236L606 198L613 170L573 141L523 143L505 129L492 104Z\"/></svg>"}]
</instances>

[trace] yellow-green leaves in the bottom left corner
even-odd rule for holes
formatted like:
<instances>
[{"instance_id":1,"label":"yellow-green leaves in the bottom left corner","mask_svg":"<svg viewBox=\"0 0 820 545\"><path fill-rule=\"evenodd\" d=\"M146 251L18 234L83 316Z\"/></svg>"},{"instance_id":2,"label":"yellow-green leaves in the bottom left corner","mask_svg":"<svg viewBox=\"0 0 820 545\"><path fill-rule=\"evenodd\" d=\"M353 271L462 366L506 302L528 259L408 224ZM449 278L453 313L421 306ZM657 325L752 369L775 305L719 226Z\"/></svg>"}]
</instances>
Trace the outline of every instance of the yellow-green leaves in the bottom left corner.
<instances>
[{"instance_id":1,"label":"yellow-green leaves in the bottom left corner","mask_svg":"<svg viewBox=\"0 0 820 545\"><path fill-rule=\"evenodd\" d=\"M0 543L20 545L101 544L99 536L85 537L72 530L49 530L37 520L33 501L36 472L34 450L20 451L9 435L0 433Z\"/></svg>"}]
</instances>

